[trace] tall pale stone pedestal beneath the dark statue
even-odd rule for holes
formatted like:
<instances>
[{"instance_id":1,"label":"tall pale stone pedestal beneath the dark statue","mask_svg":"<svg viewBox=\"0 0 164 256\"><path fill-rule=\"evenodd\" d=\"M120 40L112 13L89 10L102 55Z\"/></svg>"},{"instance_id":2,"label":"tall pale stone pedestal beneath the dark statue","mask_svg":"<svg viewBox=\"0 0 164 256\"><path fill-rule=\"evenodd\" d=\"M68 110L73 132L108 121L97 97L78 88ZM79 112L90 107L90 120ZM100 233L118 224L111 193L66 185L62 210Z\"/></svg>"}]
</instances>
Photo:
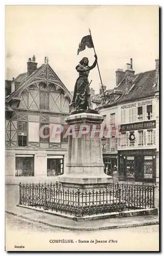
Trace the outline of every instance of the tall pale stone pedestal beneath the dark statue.
<instances>
[{"instance_id":1,"label":"tall pale stone pedestal beneath the dark statue","mask_svg":"<svg viewBox=\"0 0 164 256\"><path fill-rule=\"evenodd\" d=\"M65 187L103 187L112 179L104 173L100 125L103 117L98 113L75 113L67 117L69 131L67 171L59 177Z\"/></svg>"}]
</instances>

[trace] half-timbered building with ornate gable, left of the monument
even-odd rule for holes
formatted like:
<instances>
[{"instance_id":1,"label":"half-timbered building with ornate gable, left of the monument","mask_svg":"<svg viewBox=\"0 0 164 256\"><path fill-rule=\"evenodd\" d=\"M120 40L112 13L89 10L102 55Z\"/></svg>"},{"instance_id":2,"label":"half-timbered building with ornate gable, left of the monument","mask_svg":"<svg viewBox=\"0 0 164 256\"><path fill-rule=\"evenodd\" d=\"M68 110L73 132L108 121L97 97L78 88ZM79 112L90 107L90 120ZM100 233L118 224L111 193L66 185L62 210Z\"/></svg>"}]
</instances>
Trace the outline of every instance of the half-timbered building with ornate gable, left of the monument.
<instances>
[{"instance_id":1,"label":"half-timbered building with ornate gable, left of the monument","mask_svg":"<svg viewBox=\"0 0 164 256\"><path fill-rule=\"evenodd\" d=\"M72 95L46 58L39 68L35 56L27 65L27 72L6 80L7 184L49 182L65 172ZM50 136L50 127L60 125L63 132Z\"/></svg>"}]
</instances>

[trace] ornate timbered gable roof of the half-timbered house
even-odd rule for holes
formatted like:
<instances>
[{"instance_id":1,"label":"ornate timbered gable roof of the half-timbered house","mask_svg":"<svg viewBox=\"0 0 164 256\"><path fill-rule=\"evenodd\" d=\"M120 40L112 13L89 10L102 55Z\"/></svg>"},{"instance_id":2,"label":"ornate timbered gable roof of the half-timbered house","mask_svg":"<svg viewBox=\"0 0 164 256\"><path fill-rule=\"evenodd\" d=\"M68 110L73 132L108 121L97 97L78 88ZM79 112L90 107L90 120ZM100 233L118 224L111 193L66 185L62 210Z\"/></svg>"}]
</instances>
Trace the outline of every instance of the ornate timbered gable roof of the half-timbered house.
<instances>
[{"instance_id":1,"label":"ornate timbered gable roof of the half-timbered house","mask_svg":"<svg viewBox=\"0 0 164 256\"><path fill-rule=\"evenodd\" d=\"M48 65L48 67L47 67ZM43 64L41 65L36 71L34 71L30 76L25 75L26 73L20 74L17 76L17 80L21 80L19 82L16 90L6 98L6 102L9 102L12 97L18 97L18 94L20 94L25 88L29 87L32 83L35 83L35 81L47 81L47 70L48 70L48 81L53 82L57 87L62 88L66 95L70 99L72 99L72 95L68 91L68 89L64 86L63 82L60 80L60 78L57 76L57 74L51 69L49 64ZM18 81L16 81L18 83Z\"/></svg>"}]
</instances>

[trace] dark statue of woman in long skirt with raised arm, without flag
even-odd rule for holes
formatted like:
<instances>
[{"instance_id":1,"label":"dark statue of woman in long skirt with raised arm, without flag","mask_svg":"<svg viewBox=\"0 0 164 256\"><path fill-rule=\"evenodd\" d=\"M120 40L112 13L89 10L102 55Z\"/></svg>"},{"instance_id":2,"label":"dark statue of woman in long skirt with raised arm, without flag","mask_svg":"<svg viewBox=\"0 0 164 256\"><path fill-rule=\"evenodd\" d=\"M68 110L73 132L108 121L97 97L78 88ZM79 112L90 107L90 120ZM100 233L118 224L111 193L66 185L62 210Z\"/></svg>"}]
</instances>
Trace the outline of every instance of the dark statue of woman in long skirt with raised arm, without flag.
<instances>
[{"instance_id":1,"label":"dark statue of woman in long skirt with raised arm, without flag","mask_svg":"<svg viewBox=\"0 0 164 256\"><path fill-rule=\"evenodd\" d=\"M90 70L96 67L97 55L95 55L95 61L92 66L89 65L88 58L84 57L77 65L76 70L79 74L79 77L76 80L74 87L73 100L70 104L73 107L74 111L80 110L92 110L91 108L91 93L89 87L88 76Z\"/></svg>"}]
</instances>

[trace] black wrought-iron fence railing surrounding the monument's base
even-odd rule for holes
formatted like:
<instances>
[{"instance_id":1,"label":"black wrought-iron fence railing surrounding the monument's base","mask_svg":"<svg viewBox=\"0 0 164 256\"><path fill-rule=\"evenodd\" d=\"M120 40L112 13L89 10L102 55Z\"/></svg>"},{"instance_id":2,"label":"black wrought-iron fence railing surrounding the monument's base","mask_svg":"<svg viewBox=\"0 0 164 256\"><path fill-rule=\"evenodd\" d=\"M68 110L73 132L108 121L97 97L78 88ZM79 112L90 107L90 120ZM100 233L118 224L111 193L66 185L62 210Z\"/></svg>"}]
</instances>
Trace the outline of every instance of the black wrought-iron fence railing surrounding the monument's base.
<instances>
[{"instance_id":1,"label":"black wrought-iron fence railing surrounding the monument's base","mask_svg":"<svg viewBox=\"0 0 164 256\"><path fill-rule=\"evenodd\" d=\"M154 207L154 185L109 183L92 189L61 183L19 184L19 204L80 216Z\"/></svg>"}]
</instances>

